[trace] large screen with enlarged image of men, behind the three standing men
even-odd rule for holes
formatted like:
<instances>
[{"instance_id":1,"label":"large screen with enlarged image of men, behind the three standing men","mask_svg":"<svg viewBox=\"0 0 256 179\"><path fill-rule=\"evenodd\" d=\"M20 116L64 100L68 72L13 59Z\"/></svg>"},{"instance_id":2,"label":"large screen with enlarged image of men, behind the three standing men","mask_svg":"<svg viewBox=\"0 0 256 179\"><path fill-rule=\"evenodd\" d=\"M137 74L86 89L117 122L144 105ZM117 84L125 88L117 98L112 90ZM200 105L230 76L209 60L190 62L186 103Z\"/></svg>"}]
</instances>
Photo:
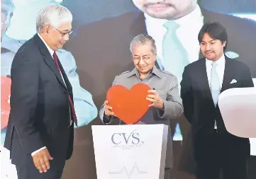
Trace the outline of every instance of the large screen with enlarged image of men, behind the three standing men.
<instances>
[{"instance_id":1,"label":"large screen with enlarged image of men, behind the three standing men","mask_svg":"<svg viewBox=\"0 0 256 179\"><path fill-rule=\"evenodd\" d=\"M72 86L77 115L74 152L65 163L62 179L96 178L91 125L103 125L101 115L97 117L97 108L101 114L108 88L116 81L113 79L122 78L125 75L123 71L135 68L129 46L136 35L150 35L155 40L157 54L154 69L156 67L176 76L179 95L184 67L204 57L198 34L208 22L219 22L226 28L228 45L223 54L230 60L246 64L252 78L256 79L254 0L183 0L182 3L179 0L1 0L1 97L4 96L1 98L1 158L4 162L1 177L17 178L16 166L11 164L9 150L3 146L10 113L11 64L18 49L35 35L38 12L51 3L62 4L73 16L69 40L56 50ZM35 75L29 78L32 77ZM159 90L156 92L165 99L162 90ZM153 122L155 118L149 119ZM172 139L171 175L177 179L194 179L196 166L191 156L193 140L188 120L182 115L172 118L168 124ZM109 123L119 124L120 120ZM255 140L250 139L248 171L253 179L255 144Z\"/></svg>"}]
</instances>

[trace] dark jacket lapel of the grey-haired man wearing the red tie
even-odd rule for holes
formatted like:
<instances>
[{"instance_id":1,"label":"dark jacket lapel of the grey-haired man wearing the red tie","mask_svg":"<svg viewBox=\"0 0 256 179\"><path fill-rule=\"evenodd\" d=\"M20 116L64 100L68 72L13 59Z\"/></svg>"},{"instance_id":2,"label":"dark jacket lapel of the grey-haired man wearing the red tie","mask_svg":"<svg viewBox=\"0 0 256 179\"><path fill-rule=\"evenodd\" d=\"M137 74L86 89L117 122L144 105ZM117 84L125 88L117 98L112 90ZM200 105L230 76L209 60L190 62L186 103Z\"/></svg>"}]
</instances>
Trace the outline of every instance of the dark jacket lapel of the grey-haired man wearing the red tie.
<instances>
[{"instance_id":1,"label":"dark jacket lapel of the grey-haired man wearing the red tie","mask_svg":"<svg viewBox=\"0 0 256 179\"><path fill-rule=\"evenodd\" d=\"M35 34L33 39L35 40L35 44L38 44L40 52L44 56L43 59L45 60L45 63L48 64L50 69L52 69L52 71L55 73L55 76L57 76L57 79L62 84L62 86L66 88L65 83L62 80L62 77L60 75L60 72L58 71L57 66L56 66L56 64L55 64L55 62L54 62L54 60L53 60L49 50L45 46L44 42L40 39L38 34Z\"/></svg>"}]
</instances>

